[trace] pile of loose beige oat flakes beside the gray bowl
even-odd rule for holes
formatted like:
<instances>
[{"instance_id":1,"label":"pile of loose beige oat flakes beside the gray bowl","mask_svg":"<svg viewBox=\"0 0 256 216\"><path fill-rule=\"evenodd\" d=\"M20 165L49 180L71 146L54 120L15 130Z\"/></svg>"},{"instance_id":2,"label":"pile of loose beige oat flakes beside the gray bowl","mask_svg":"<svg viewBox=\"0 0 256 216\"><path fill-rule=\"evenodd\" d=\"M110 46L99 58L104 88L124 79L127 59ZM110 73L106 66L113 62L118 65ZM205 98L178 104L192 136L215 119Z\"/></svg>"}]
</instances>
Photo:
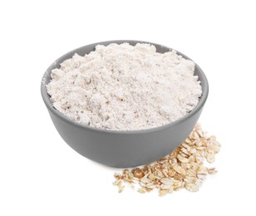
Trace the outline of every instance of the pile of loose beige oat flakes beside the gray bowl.
<instances>
[{"instance_id":1,"label":"pile of loose beige oat flakes beside the gray bowl","mask_svg":"<svg viewBox=\"0 0 256 216\"><path fill-rule=\"evenodd\" d=\"M189 137L170 155L141 168L124 169L122 174L115 174L114 184L120 193L124 184L130 184L142 194L153 189L158 189L160 196L184 188L196 192L208 174L217 173L215 168L204 166L204 160L213 163L219 148L215 136L207 136L200 125L196 125Z\"/></svg>"}]
</instances>

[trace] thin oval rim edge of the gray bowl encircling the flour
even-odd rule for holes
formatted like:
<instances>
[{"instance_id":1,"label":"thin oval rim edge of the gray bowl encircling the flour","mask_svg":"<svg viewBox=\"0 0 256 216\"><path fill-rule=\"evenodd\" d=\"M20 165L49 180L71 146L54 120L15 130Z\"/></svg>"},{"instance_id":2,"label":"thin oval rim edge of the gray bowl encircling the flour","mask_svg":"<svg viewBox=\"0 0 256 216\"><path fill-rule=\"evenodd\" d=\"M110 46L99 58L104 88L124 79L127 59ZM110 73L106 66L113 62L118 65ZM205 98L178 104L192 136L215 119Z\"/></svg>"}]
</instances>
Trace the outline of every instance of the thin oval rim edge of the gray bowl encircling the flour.
<instances>
[{"instance_id":1,"label":"thin oval rim edge of the gray bowl encircling the flour","mask_svg":"<svg viewBox=\"0 0 256 216\"><path fill-rule=\"evenodd\" d=\"M103 133L108 133L108 134L145 134L145 133L151 133L151 132L156 132L159 130L167 130L172 126L178 125L181 122L184 122L185 120L187 120L188 118L190 118L190 116L193 116L195 113L197 113L199 110L201 110L202 106L204 106L205 101L207 100L208 94L209 94L209 83L208 80L204 74L204 71L194 62L195 67L197 68L197 70L199 71L200 75L201 75L201 83L204 82L204 88L202 88L202 96L200 96L199 98L199 102L197 104L197 106L194 107L193 110L191 110L188 114L186 114L185 116L181 117L178 120L175 120L169 124L166 125L160 125L160 126L156 126L156 127L152 127L149 129L143 129L143 130L106 130L106 129L101 129L101 128L96 128L90 125L83 125L79 122L76 122L75 120L71 120L70 118L66 117L66 115L63 115L59 110L57 110L56 108L54 108L52 106L52 101L50 99L50 96L47 93L47 85L46 85L46 81L47 81L47 77L51 75L52 69L56 68L57 64L61 63L63 60L63 58L65 58L66 56L70 56L71 54L75 54L76 52L79 52L82 48L84 47L96 47L96 45L101 45L101 44L111 44L111 43L117 43L117 44L121 44L124 42L128 42L128 43L148 43L151 45L154 45L156 47L164 47L165 49L169 49L171 50L175 50L172 49L170 47L165 47L163 45L157 44L157 43L153 43L153 42L144 42L144 41L136 41L136 40L115 40L115 41L106 41L106 42L96 42L96 43L92 43L92 44L88 44L86 46L82 46L79 48L76 48L74 50L72 50L71 52L67 52L66 54L62 55L61 57L59 57L56 61L54 61L51 66L49 66L47 68L47 71L45 71L44 75L42 76L42 81L41 81L41 94L42 94L42 99L45 103L45 105L47 106L47 109L49 111L51 111L54 115L57 115L59 118L61 118L62 120L66 121L66 123L71 124L71 125L75 125L77 127L80 127L81 129L86 129L86 130L91 130L93 132L103 132ZM175 50L176 51L176 50ZM188 59L190 61L191 60L188 56L185 56L183 53L176 51L178 55L184 57L185 59Z\"/></svg>"}]
</instances>

